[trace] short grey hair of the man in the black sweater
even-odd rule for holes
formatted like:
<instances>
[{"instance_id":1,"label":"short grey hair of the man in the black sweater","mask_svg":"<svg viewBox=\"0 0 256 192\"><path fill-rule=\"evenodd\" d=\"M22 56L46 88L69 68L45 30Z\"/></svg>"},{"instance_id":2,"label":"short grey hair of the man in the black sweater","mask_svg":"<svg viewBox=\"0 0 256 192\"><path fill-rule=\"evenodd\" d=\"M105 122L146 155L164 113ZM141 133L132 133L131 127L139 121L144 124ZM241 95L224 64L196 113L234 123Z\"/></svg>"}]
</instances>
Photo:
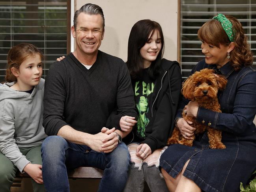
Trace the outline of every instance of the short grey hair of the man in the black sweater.
<instances>
[{"instance_id":1,"label":"short grey hair of the man in the black sweater","mask_svg":"<svg viewBox=\"0 0 256 192\"><path fill-rule=\"evenodd\" d=\"M101 15L101 18L102 18L102 21L103 21L103 30L104 30L104 28L105 28L105 19L104 19L103 11L102 11L100 6L97 6L97 5L91 4L91 3L87 3L87 4L83 5L80 9L78 9L75 12L75 15L74 15L75 30L77 29L77 17L80 13L86 13L86 14L89 14L89 15L98 15L98 14Z\"/></svg>"}]
</instances>

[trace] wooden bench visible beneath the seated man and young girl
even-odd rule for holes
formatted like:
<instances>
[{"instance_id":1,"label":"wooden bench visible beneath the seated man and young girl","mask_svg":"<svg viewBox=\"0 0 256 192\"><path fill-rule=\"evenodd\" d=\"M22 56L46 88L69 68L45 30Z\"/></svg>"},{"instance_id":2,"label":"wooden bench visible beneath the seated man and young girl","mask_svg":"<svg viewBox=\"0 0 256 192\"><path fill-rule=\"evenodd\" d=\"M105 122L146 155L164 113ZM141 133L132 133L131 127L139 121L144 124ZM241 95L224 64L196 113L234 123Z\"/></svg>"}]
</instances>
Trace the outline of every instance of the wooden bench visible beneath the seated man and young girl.
<instances>
[{"instance_id":1,"label":"wooden bench visible beneath the seated man and young girl","mask_svg":"<svg viewBox=\"0 0 256 192\"><path fill-rule=\"evenodd\" d=\"M101 179L103 170L94 167L78 167L67 172L69 179ZM29 178L27 173L17 171L12 188L20 188L22 186L22 178ZM14 190L13 190L14 191Z\"/></svg>"}]
</instances>

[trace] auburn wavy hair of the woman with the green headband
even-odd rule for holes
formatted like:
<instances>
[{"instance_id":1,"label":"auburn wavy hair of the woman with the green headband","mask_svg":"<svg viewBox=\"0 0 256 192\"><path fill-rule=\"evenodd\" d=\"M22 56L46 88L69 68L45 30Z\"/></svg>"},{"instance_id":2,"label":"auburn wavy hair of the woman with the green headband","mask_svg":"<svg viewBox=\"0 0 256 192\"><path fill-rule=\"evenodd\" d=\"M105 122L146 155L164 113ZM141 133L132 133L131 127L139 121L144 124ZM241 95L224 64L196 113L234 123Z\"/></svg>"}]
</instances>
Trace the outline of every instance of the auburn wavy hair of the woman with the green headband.
<instances>
[{"instance_id":1,"label":"auburn wavy hair of the woman with the green headband","mask_svg":"<svg viewBox=\"0 0 256 192\"><path fill-rule=\"evenodd\" d=\"M238 71L243 66L252 65L252 52L247 43L247 36L242 24L233 16L226 15L226 18L232 23L233 34L235 34L235 48L230 52L230 65L235 71ZM198 30L197 35L201 41L219 48L220 45L228 46L231 43L220 22L215 19L204 23Z\"/></svg>"}]
</instances>

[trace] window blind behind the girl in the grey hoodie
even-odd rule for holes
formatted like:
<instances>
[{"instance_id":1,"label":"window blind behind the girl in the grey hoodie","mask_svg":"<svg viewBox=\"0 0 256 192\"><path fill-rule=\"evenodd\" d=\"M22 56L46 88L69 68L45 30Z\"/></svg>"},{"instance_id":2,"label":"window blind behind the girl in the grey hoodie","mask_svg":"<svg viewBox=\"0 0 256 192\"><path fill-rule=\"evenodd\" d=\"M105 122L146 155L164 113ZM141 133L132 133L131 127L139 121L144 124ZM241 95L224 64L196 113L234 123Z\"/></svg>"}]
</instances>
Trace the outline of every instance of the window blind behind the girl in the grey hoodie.
<instances>
[{"instance_id":1,"label":"window blind behind the girl in the grey hoodie","mask_svg":"<svg viewBox=\"0 0 256 192\"><path fill-rule=\"evenodd\" d=\"M0 82L4 81L9 49L23 42L41 49L44 78L50 64L67 54L67 1L0 2Z\"/></svg>"}]
</instances>

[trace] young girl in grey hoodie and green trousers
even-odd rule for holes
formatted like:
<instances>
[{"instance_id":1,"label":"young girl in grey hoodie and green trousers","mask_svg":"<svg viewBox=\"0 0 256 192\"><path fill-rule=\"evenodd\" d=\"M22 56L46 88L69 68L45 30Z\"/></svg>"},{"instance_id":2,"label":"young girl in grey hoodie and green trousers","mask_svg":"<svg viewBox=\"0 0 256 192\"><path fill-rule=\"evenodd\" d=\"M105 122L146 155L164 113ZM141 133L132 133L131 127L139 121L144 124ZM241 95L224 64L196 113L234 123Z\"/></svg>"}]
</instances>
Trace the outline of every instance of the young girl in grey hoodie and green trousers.
<instances>
[{"instance_id":1,"label":"young girl in grey hoodie and green trousers","mask_svg":"<svg viewBox=\"0 0 256 192\"><path fill-rule=\"evenodd\" d=\"M0 191L9 192L15 173L28 173L35 192L44 191L41 144L44 79L42 54L22 43L7 56L6 81L0 84Z\"/></svg>"}]
</instances>

